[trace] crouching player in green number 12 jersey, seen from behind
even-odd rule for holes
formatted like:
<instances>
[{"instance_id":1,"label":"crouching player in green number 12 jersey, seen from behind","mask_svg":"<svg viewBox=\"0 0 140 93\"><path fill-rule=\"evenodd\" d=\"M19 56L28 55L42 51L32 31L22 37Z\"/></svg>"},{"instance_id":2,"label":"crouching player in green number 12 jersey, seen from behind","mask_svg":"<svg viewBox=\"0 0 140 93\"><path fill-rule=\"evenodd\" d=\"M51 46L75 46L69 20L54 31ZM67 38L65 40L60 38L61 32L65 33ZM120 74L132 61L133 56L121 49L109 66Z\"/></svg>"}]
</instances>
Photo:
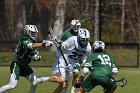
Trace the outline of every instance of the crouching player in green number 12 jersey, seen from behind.
<instances>
[{"instance_id":1,"label":"crouching player in green number 12 jersey, seen from behind","mask_svg":"<svg viewBox=\"0 0 140 93\"><path fill-rule=\"evenodd\" d=\"M97 85L104 88L104 93L113 93L117 88L115 80L112 78L112 70L115 73L118 69L114 59L104 53L105 44L102 41L93 43L93 53L88 56L86 63L91 63L91 74L82 82L76 93L91 91Z\"/></svg>"}]
</instances>

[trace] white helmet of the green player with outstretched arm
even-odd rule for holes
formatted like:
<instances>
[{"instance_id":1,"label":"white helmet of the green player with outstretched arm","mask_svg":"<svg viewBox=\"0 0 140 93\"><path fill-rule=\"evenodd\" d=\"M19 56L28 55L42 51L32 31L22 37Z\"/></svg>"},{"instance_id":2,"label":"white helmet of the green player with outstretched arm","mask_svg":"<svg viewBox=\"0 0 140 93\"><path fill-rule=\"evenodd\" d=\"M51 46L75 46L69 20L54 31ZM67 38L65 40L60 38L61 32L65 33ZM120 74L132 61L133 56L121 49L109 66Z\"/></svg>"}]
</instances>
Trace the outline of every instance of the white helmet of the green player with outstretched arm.
<instances>
[{"instance_id":1,"label":"white helmet of the green player with outstretched arm","mask_svg":"<svg viewBox=\"0 0 140 93\"><path fill-rule=\"evenodd\" d=\"M38 29L35 25L26 25L24 31L25 34L29 35L33 40L37 38Z\"/></svg>"}]
</instances>

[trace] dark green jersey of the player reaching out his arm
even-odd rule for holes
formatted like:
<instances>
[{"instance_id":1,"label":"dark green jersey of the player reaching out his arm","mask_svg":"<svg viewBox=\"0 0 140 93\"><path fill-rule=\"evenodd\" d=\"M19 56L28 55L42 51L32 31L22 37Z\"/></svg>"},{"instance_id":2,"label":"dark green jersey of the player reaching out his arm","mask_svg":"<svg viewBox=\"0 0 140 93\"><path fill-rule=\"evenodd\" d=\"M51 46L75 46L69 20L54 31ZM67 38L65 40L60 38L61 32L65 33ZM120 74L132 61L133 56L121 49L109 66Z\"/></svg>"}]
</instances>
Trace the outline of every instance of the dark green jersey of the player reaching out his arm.
<instances>
[{"instance_id":1,"label":"dark green jersey of the player reaching out his arm","mask_svg":"<svg viewBox=\"0 0 140 93\"><path fill-rule=\"evenodd\" d=\"M16 62L23 66L28 66L31 62L31 57L34 55L35 49L27 48L28 43L36 43L37 40L32 40L29 36L24 35L16 49Z\"/></svg>"}]
</instances>

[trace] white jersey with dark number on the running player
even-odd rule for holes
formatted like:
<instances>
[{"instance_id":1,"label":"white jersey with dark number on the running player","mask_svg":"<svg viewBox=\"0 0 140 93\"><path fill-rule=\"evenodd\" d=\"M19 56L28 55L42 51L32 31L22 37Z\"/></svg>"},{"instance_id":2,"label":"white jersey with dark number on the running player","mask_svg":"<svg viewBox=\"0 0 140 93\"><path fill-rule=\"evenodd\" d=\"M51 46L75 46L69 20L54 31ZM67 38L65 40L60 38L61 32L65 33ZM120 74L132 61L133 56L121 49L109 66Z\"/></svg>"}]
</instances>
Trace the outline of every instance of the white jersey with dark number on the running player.
<instances>
[{"instance_id":1,"label":"white jersey with dark number on the running player","mask_svg":"<svg viewBox=\"0 0 140 93\"><path fill-rule=\"evenodd\" d=\"M62 52L70 64L76 62L85 63L87 56L91 52L91 45L88 42L86 47L81 47L77 36L72 36L62 43ZM61 55L61 54L59 54Z\"/></svg>"}]
</instances>

